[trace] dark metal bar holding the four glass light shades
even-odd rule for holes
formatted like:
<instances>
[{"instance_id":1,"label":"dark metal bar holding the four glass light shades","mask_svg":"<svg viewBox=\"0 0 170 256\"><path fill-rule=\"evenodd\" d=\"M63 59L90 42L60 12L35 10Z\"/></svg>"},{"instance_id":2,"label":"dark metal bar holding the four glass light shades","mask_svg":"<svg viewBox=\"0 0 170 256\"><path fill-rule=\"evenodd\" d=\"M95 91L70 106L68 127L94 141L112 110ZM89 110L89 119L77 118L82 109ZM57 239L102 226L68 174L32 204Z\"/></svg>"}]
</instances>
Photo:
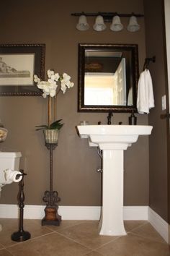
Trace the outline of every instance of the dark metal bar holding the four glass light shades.
<instances>
[{"instance_id":1,"label":"dark metal bar holding the four glass light shades","mask_svg":"<svg viewBox=\"0 0 170 256\"><path fill-rule=\"evenodd\" d=\"M71 13L72 16L81 16L81 15L85 15L86 17L88 16L98 16L101 15L104 18L105 22L110 22L112 20L112 17L114 17L115 15L119 16L119 17L131 17L131 16L135 16L135 17L144 17L144 14L135 14L135 13L126 13L126 14L122 14L122 13L118 13L118 12L75 12L75 13Z\"/></svg>"}]
</instances>

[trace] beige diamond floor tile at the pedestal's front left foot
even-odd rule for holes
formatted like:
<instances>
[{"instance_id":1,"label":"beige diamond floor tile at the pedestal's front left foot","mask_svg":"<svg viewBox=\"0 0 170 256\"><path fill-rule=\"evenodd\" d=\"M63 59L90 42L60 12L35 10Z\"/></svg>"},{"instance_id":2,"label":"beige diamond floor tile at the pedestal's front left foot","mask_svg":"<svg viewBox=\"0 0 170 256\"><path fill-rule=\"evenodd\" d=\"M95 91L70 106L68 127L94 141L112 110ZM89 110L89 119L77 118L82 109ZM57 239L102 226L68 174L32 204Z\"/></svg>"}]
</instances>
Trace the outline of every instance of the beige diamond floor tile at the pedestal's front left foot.
<instances>
[{"instance_id":1,"label":"beige diamond floor tile at the pedestal's front left foot","mask_svg":"<svg viewBox=\"0 0 170 256\"><path fill-rule=\"evenodd\" d=\"M98 225L99 221L84 221L68 229L59 230L58 233L83 244L89 249L98 248L117 238L117 236L100 236Z\"/></svg>"}]
</instances>

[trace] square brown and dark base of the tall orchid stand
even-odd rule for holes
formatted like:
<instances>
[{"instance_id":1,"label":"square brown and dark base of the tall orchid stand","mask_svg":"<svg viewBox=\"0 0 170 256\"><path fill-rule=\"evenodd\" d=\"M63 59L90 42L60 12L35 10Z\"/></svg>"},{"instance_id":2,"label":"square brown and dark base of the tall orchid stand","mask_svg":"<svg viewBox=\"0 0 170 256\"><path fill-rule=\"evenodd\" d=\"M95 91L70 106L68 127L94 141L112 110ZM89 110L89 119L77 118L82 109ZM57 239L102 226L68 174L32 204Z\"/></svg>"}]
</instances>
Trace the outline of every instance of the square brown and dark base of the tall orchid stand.
<instances>
[{"instance_id":1,"label":"square brown and dark base of the tall orchid stand","mask_svg":"<svg viewBox=\"0 0 170 256\"><path fill-rule=\"evenodd\" d=\"M60 226L61 223L61 216L58 215L58 210L54 206L46 206L45 207L45 217L42 218L41 224L44 225L54 225Z\"/></svg>"}]
</instances>

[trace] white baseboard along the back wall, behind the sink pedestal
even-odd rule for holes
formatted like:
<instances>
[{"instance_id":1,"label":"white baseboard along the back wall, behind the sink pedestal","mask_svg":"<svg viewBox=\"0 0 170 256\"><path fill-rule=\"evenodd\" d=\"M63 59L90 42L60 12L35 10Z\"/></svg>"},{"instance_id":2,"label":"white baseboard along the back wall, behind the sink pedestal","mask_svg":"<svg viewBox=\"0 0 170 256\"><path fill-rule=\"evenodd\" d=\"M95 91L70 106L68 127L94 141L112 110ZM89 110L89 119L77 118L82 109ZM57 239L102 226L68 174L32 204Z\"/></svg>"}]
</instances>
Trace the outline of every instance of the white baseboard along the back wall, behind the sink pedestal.
<instances>
[{"instance_id":1,"label":"white baseboard along the back wall, behind the sink pedestal","mask_svg":"<svg viewBox=\"0 0 170 256\"><path fill-rule=\"evenodd\" d=\"M25 205L24 218L42 219L45 205ZM99 220L99 206L59 206L63 220ZM0 204L0 218L18 218L17 205ZM124 220L148 220L148 206L124 206Z\"/></svg>"}]
</instances>

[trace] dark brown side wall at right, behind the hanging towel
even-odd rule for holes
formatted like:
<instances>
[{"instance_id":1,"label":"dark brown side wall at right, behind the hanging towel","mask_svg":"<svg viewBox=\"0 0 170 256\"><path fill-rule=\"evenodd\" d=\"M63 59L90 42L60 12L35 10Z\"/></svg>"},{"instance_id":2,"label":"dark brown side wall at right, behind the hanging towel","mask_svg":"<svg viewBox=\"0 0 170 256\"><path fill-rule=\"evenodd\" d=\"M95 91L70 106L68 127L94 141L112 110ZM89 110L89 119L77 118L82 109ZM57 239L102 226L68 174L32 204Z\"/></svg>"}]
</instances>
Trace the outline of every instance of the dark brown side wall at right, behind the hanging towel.
<instances>
[{"instance_id":1,"label":"dark brown side wall at right, behind the hanging towel","mask_svg":"<svg viewBox=\"0 0 170 256\"><path fill-rule=\"evenodd\" d=\"M167 221L167 137L166 119L160 115L161 97L166 94L166 52L164 44L164 8L163 1L151 0L145 2L146 16L146 52L148 56L156 56L156 63L151 64L153 75L153 90L156 108L149 115L149 124L153 132L149 138L149 205ZM154 8L153 8L154 6ZM152 10L152 12L151 12Z\"/></svg>"}]
</instances>

